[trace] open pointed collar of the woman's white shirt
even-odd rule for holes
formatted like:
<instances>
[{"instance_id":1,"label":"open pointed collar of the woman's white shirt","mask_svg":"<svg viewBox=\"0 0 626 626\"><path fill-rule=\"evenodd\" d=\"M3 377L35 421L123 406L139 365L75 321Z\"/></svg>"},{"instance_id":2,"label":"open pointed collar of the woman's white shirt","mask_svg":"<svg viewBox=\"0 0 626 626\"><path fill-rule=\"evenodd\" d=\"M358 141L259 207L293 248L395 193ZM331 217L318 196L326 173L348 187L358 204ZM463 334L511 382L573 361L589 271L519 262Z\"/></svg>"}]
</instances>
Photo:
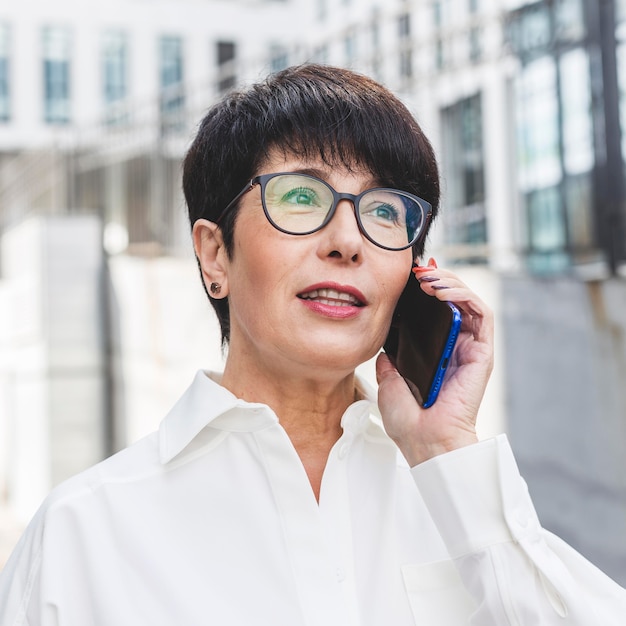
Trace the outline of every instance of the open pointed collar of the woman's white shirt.
<instances>
[{"instance_id":1,"label":"open pointed collar of the woman's white shirt","mask_svg":"<svg viewBox=\"0 0 626 626\"><path fill-rule=\"evenodd\" d=\"M253 432L278 424L265 404L246 402L219 384L220 374L200 370L159 427L159 458L169 463L210 426L215 436L225 432ZM344 431L368 439L389 441L382 427L374 390L356 380L356 401L341 419Z\"/></svg>"}]
</instances>

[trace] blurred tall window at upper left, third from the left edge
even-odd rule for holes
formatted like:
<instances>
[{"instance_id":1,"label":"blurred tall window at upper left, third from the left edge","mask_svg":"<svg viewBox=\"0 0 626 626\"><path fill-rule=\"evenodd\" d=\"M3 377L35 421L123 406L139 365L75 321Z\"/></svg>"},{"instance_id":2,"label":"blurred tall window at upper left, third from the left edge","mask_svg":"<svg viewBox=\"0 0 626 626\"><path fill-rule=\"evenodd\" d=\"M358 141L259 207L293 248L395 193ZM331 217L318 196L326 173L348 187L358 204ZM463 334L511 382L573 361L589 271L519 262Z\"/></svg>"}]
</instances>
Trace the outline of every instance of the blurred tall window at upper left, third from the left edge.
<instances>
[{"instance_id":1,"label":"blurred tall window at upper left, third from the left edge","mask_svg":"<svg viewBox=\"0 0 626 626\"><path fill-rule=\"evenodd\" d=\"M122 31L107 31L102 41L102 91L106 119L122 121L121 105L128 96L128 43Z\"/></svg>"}]
</instances>

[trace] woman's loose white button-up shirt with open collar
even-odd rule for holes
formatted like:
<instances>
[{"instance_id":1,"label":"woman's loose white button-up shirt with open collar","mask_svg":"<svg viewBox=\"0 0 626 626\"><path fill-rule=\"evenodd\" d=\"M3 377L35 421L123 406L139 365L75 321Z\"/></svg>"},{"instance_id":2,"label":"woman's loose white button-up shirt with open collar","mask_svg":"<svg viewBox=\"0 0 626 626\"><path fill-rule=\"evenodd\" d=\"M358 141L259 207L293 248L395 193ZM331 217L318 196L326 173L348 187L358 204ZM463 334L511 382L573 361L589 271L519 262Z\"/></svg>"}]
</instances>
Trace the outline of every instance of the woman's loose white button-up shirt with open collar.
<instances>
[{"instance_id":1,"label":"woman's loose white button-up shirt with open collar","mask_svg":"<svg viewBox=\"0 0 626 626\"><path fill-rule=\"evenodd\" d=\"M0 625L624 626L504 436L410 469L372 401L342 427L318 504L271 409L199 372L158 433L47 498Z\"/></svg>"}]
</instances>

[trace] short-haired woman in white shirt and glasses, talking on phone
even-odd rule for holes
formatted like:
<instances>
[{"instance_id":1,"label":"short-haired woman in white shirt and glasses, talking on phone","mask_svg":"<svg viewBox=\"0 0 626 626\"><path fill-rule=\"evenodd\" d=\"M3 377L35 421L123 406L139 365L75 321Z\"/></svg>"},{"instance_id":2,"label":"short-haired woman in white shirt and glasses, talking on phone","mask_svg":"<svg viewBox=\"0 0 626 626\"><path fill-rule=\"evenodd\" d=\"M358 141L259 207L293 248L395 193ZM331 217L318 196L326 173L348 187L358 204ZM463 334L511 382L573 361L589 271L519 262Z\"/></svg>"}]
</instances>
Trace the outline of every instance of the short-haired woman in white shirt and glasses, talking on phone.
<instances>
[{"instance_id":1,"label":"short-haired woman in white shirt and glasses, talking on phone","mask_svg":"<svg viewBox=\"0 0 626 626\"><path fill-rule=\"evenodd\" d=\"M506 438L477 441L492 316L414 267L439 190L406 108L347 70L285 70L209 111L183 184L224 372L53 492L0 623L622 624L626 593L540 527ZM354 372L407 279L463 326L427 410L378 356L379 414Z\"/></svg>"}]
</instances>

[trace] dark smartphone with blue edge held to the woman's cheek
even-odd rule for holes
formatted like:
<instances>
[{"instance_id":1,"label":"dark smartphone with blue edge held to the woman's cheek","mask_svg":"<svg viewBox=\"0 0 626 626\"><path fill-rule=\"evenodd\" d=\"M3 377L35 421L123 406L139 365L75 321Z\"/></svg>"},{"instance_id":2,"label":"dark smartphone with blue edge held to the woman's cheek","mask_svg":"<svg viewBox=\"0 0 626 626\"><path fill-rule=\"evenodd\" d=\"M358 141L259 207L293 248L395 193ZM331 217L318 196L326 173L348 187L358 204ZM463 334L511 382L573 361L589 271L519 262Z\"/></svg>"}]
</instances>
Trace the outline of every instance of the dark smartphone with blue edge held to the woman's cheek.
<instances>
[{"instance_id":1,"label":"dark smartphone with blue edge held to the woman's cheek","mask_svg":"<svg viewBox=\"0 0 626 626\"><path fill-rule=\"evenodd\" d=\"M437 399L460 327L459 309L424 293L411 273L383 348L424 408Z\"/></svg>"}]
</instances>

